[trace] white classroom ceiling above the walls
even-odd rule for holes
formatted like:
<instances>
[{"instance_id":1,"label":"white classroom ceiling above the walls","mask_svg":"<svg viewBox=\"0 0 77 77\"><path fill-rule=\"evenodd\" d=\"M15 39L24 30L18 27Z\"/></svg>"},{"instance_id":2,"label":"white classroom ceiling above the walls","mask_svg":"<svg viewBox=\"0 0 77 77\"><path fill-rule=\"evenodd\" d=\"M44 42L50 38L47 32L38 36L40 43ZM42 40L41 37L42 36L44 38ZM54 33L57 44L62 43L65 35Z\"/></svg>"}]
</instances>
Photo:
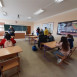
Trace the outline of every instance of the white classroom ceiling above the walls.
<instances>
[{"instance_id":1,"label":"white classroom ceiling above the walls","mask_svg":"<svg viewBox=\"0 0 77 77\"><path fill-rule=\"evenodd\" d=\"M55 3L54 0L2 0L3 7L0 8L0 18L10 20L37 21L55 14L77 8L77 0L64 0L62 3ZM33 15L39 9L44 13ZM3 11L7 15L3 15ZM19 14L19 18L18 18ZM28 20L27 17L32 19Z\"/></svg>"}]
</instances>

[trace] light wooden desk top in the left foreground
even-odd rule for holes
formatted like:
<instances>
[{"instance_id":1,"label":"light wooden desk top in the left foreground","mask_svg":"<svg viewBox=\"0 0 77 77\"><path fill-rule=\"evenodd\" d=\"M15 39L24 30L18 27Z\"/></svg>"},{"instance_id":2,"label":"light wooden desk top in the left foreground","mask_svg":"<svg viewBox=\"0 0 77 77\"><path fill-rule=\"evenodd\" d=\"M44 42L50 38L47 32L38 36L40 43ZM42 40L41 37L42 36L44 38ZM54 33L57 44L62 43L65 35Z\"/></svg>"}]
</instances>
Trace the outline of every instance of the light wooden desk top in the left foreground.
<instances>
[{"instance_id":1,"label":"light wooden desk top in the left foreground","mask_svg":"<svg viewBox=\"0 0 77 77\"><path fill-rule=\"evenodd\" d=\"M0 49L0 60L3 58L9 58L14 55L18 55L18 53L20 52L22 52L22 49L19 46L1 48Z\"/></svg>"}]
</instances>

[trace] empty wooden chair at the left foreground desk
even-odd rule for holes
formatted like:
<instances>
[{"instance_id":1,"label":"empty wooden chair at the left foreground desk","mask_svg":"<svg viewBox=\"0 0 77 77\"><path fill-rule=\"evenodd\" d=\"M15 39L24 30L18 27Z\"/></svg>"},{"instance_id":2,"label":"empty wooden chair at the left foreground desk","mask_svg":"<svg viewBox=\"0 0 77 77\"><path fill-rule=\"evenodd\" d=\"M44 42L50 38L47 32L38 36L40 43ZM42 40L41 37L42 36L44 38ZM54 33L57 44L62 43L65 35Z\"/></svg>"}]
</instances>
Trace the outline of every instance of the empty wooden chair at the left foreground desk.
<instances>
[{"instance_id":1,"label":"empty wooden chair at the left foreground desk","mask_svg":"<svg viewBox=\"0 0 77 77\"><path fill-rule=\"evenodd\" d=\"M15 67L17 67L17 73L19 76L19 71L20 71L20 58L19 57L11 58L3 62L0 62L0 70L1 70L2 77L4 77L5 71L10 70Z\"/></svg>"}]
</instances>

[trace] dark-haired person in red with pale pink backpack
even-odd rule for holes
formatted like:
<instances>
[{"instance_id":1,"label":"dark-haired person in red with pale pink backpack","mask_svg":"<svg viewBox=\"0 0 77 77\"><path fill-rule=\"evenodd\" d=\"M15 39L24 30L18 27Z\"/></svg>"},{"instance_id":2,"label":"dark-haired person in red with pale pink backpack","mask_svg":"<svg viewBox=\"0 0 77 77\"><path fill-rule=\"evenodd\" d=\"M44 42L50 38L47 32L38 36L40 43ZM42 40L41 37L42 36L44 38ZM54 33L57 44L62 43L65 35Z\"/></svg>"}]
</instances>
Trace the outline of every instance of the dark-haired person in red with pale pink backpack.
<instances>
[{"instance_id":1,"label":"dark-haired person in red with pale pink backpack","mask_svg":"<svg viewBox=\"0 0 77 77\"><path fill-rule=\"evenodd\" d=\"M16 43L14 38L11 38L9 33L6 33L4 36L4 39L1 40L0 46L3 46L3 48L13 46Z\"/></svg>"}]
</instances>

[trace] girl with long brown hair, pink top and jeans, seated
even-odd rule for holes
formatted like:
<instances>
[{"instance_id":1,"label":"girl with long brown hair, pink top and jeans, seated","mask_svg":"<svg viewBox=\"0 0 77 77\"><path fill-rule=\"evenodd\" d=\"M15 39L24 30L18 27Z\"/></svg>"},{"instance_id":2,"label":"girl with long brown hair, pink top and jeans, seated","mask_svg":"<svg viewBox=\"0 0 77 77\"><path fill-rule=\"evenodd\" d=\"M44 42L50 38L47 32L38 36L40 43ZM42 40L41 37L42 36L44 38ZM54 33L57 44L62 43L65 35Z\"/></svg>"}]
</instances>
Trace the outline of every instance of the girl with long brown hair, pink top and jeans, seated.
<instances>
[{"instance_id":1,"label":"girl with long brown hair, pink top and jeans, seated","mask_svg":"<svg viewBox=\"0 0 77 77\"><path fill-rule=\"evenodd\" d=\"M57 63L60 63L62 60L57 55L68 56L70 53L70 45L67 40L67 37L61 37L61 41L57 43L56 46L58 46L60 49L53 52L53 54L57 58Z\"/></svg>"}]
</instances>

